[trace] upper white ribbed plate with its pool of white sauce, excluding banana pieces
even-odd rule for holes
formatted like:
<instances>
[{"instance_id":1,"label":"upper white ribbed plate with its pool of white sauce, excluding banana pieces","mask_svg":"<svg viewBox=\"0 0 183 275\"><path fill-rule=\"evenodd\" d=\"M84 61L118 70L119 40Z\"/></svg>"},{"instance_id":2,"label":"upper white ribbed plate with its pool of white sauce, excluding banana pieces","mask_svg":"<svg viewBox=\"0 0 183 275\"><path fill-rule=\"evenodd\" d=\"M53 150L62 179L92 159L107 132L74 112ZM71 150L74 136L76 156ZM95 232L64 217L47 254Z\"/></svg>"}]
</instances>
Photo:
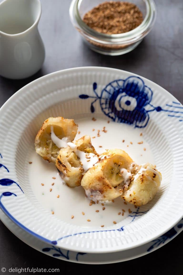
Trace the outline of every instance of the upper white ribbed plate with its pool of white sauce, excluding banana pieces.
<instances>
[{"instance_id":1,"label":"upper white ribbed plate with its pool of white sauce, excluding banana pieces","mask_svg":"<svg viewBox=\"0 0 183 275\"><path fill-rule=\"evenodd\" d=\"M181 103L167 91L116 69L74 68L33 81L0 110L1 209L34 237L66 250L116 252L149 243L182 218L182 113ZM80 136L97 136L105 126L108 132L92 139L98 152L99 145L102 150L117 147L139 164L156 164L163 180L154 199L135 209L118 198L103 211L99 204L89 206L81 187L62 185L54 165L34 151L36 132L49 116L74 118ZM143 145L137 144L141 140ZM50 192L52 177L56 180ZM118 215L122 209L124 216Z\"/></svg>"}]
</instances>

